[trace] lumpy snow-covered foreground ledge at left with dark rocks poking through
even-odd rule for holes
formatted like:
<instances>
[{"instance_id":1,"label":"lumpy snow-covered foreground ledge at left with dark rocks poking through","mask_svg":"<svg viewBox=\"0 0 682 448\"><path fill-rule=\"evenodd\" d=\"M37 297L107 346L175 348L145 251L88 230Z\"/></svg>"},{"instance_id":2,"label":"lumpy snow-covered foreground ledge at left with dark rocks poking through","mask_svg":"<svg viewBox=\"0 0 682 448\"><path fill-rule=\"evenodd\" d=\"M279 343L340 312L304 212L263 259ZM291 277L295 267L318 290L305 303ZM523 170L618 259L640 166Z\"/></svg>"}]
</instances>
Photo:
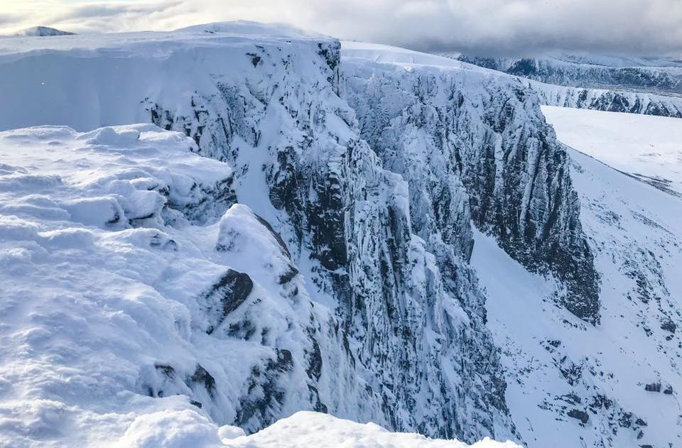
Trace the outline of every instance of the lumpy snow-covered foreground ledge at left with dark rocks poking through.
<instances>
[{"instance_id":1,"label":"lumpy snow-covered foreground ledge at left with dark rocks poking through","mask_svg":"<svg viewBox=\"0 0 682 448\"><path fill-rule=\"evenodd\" d=\"M3 444L109 444L157 411L256 429L317 396L334 322L272 275L291 262L227 165L153 125L0 141Z\"/></svg>"}]
</instances>

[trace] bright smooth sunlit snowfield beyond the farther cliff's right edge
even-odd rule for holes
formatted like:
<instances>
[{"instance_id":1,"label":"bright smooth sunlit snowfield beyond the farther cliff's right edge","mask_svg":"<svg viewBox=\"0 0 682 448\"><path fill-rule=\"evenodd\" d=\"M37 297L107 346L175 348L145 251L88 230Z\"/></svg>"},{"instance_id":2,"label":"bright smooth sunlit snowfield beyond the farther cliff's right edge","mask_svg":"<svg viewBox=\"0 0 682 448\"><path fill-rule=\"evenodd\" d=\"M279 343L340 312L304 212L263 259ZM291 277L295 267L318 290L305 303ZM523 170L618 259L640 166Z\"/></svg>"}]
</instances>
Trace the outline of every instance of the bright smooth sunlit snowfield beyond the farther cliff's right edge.
<instances>
[{"instance_id":1,"label":"bright smooth sunlit snowfield beyond the farther cliff's right edge","mask_svg":"<svg viewBox=\"0 0 682 448\"><path fill-rule=\"evenodd\" d=\"M682 195L682 119L542 106L560 141Z\"/></svg>"}]
</instances>

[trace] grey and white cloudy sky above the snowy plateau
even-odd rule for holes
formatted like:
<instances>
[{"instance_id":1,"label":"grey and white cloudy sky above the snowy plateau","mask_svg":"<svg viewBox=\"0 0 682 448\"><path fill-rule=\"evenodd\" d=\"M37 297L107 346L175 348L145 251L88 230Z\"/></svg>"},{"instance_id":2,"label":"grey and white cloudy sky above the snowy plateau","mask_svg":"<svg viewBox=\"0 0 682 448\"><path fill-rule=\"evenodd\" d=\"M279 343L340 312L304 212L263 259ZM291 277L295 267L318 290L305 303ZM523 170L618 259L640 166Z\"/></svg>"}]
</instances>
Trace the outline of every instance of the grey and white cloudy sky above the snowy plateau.
<instances>
[{"instance_id":1,"label":"grey and white cloudy sky above the snowy plateau","mask_svg":"<svg viewBox=\"0 0 682 448\"><path fill-rule=\"evenodd\" d=\"M417 50L682 55L682 0L0 0L0 34L170 30L246 19Z\"/></svg>"}]
</instances>

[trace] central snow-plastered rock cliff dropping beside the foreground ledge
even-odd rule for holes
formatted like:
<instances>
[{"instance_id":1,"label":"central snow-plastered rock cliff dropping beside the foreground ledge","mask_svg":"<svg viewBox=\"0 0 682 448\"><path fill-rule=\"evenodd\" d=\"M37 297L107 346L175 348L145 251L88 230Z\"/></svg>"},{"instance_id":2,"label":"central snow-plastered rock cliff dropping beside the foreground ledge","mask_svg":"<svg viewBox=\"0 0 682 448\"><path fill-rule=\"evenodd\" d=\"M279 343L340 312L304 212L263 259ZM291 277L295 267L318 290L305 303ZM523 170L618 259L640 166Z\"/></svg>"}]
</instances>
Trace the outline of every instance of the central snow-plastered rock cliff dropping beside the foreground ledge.
<instances>
[{"instance_id":1,"label":"central snow-plastered rock cliff dropping beside the foreground ledge","mask_svg":"<svg viewBox=\"0 0 682 448\"><path fill-rule=\"evenodd\" d=\"M313 400L285 399L434 436L509 433L484 297L467 267L465 190L455 173L424 192L382 167L337 95L345 87L339 43L306 50L283 55L261 45L245 55L253 65L246 84L219 77L214 94L193 96L189 115L146 103L158 126L184 131L199 153L242 173L237 201L278 217L297 270L312 280L310 296L324 295L334 310L306 349L321 359L306 368ZM281 58L288 70L274 63ZM256 198L247 189L259 182ZM340 361L325 360L339 350L345 374L357 378L348 390L339 388L344 371L330 368ZM274 420L267 407L256 411L249 429Z\"/></svg>"}]
</instances>

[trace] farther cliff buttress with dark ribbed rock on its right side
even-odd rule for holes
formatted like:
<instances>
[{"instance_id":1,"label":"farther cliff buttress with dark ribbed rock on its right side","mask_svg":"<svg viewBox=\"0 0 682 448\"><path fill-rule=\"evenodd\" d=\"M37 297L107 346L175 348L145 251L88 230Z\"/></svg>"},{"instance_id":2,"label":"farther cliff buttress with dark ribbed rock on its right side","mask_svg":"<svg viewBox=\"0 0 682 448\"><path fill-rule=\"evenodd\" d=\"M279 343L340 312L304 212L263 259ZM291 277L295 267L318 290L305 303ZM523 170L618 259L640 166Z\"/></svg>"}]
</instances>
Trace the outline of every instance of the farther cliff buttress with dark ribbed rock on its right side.
<instances>
[{"instance_id":1,"label":"farther cliff buttress with dark ribbed rock on its right side","mask_svg":"<svg viewBox=\"0 0 682 448\"><path fill-rule=\"evenodd\" d=\"M389 51L375 50L381 60ZM561 279L558 300L568 310L599 322L597 274L568 158L534 94L493 73L374 63L353 48L345 55L361 135L385 168L408 180L416 233L468 259L471 217L529 269Z\"/></svg>"}]
</instances>

